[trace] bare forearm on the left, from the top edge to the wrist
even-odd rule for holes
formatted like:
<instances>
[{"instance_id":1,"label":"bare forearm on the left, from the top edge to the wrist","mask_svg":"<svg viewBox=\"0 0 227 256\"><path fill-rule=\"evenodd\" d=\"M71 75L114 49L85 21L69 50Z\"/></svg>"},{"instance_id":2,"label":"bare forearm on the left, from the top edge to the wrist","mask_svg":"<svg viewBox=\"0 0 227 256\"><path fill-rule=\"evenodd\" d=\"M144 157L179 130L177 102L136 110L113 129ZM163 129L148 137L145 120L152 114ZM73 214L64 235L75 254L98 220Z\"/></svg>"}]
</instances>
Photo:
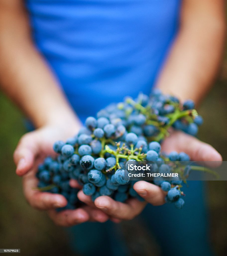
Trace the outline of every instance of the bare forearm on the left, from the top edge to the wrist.
<instances>
[{"instance_id":1,"label":"bare forearm on the left, from the top edge to the wrist","mask_svg":"<svg viewBox=\"0 0 227 256\"><path fill-rule=\"evenodd\" d=\"M24 15L22 15L22 12ZM33 46L26 13L1 10L0 83L36 127L79 122L52 71Z\"/></svg>"}]
</instances>

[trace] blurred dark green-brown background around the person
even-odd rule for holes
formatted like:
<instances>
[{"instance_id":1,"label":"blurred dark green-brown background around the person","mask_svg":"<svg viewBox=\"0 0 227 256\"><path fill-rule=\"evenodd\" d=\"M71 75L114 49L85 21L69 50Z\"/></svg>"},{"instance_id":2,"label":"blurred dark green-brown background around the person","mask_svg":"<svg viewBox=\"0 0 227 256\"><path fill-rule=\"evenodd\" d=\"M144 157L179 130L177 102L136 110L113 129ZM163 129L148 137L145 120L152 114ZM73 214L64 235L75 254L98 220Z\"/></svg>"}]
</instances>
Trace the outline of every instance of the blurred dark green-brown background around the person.
<instances>
[{"instance_id":1,"label":"blurred dark green-brown background around the person","mask_svg":"<svg viewBox=\"0 0 227 256\"><path fill-rule=\"evenodd\" d=\"M198 108L204 117L199 138L213 145L227 160L227 58L214 87ZM0 93L0 248L21 248L22 255L72 255L67 234L45 212L32 209L23 197L21 178L15 174L13 151L26 132L22 113ZM227 182L208 182L210 242L217 255L227 252ZM159 255L158 245L134 220L120 224L132 255ZM128 237L128 233L138 234Z\"/></svg>"}]
</instances>

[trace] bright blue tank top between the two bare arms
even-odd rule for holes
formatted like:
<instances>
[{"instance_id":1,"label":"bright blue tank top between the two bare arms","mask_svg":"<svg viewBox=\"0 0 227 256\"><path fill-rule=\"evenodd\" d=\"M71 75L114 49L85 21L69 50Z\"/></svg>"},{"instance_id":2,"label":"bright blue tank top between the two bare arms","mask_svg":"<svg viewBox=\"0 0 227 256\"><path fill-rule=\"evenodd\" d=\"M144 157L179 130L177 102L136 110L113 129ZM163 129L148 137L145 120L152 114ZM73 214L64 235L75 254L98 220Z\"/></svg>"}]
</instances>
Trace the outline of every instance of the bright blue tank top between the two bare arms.
<instances>
[{"instance_id":1,"label":"bright blue tank top between the two bare arms","mask_svg":"<svg viewBox=\"0 0 227 256\"><path fill-rule=\"evenodd\" d=\"M32 35L84 119L149 94L179 23L180 0L27 0Z\"/></svg>"}]
</instances>

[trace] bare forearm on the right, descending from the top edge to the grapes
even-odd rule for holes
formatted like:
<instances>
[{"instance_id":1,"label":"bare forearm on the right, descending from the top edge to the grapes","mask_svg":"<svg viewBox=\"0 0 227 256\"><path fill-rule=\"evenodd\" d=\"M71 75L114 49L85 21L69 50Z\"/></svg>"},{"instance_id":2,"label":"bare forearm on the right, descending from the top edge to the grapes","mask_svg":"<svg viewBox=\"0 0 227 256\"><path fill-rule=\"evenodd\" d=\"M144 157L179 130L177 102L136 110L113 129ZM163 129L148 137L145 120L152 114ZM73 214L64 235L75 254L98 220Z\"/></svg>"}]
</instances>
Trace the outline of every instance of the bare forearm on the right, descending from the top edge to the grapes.
<instances>
[{"instance_id":1,"label":"bare forearm on the right, descending from the top edge to the grapes","mask_svg":"<svg viewBox=\"0 0 227 256\"><path fill-rule=\"evenodd\" d=\"M178 36L163 67L157 87L181 100L198 103L219 69L224 45L224 6L185 1ZM209 1L209 2L212 2ZM221 1L220 1L221 2Z\"/></svg>"}]
</instances>

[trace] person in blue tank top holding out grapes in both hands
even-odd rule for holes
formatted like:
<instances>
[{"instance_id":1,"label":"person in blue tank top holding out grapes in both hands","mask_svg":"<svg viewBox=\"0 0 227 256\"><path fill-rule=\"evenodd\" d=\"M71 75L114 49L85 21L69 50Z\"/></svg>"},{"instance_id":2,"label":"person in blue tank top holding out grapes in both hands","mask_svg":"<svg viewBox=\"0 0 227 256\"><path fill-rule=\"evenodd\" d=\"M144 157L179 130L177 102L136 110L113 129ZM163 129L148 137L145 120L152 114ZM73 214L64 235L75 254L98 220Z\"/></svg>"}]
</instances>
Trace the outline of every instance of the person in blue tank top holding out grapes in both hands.
<instances>
[{"instance_id":1,"label":"person in blue tank top holding out grapes in both hands","mask_svg":"<svg viewBox=\"0 0 227 256\"><path fill-rule=\"evenodd\" d=\"M193 99L198 104L217 74L223 53L224 1L0 0L0 14L1 88L36 128L22 136L14 152L16 173L23 177L30 205L47 210L57 225L74 226L87 221L129 220L140 214L146 203L147 209L164 204L165 194L159 187L140 181L134 189L145 203L130 199L123 204L99 197L93 204L80 191L78 197L85 207L57 212L56 208L67 204L66 199L32 190L37 184L35 170L46 155L53 155L56 140L76 134L87 116L126 95L149 94L156 86L182 101ZM222 160L212 146L182 132L173 132L162 149L184 151L195 161ZM210 253L203 238L204 202L194 200L193 188L203 195L201 184L192 185L187 210L174 211L171 223L156 223L159 237L168 243L163 243L164 253L168 249L182 255ZM166 207L156 207L153 214L171 214ZM149 209L146 212L150 216ZM197 218L189 218L195 214ZM186 231L173 234L170 230L177 225L177 218ZM186 224L187 218L190 223ZM193 246L192 241L196 243Z\"/></svg>"}]
</instances>

